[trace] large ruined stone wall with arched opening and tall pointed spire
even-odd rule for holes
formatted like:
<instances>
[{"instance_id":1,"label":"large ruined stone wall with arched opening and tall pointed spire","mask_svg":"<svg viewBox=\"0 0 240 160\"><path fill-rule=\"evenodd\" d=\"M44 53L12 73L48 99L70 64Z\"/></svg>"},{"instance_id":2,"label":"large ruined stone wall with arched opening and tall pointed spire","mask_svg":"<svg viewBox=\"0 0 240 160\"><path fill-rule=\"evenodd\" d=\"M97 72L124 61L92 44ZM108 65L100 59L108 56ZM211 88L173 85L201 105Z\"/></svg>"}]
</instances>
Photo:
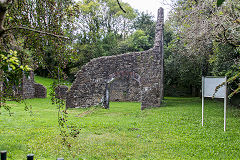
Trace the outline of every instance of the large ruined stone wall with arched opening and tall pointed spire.
<instances>
[{"instance_id":1,"label":"large ruined stone wall with arched opening and tall pointed spire","mask_svg":"<svg viewBox=\"0 0 240 160\"><path fill-rule=\"evenodd\" d=\"M108 108L109 97L110 100L117 100L118 96L124 99L124 94L118 95L120 88L122 93L126 91L129 100L140 101L141 109L159 107L163 99L163 25L163 8L160 8L153 48L100 57L84 65L68 91L66 108L90 107L99 103ZM124 88L124 84L131 87ZM118 96L111 98L114 92Z\"/></svg>"}]
</instances>

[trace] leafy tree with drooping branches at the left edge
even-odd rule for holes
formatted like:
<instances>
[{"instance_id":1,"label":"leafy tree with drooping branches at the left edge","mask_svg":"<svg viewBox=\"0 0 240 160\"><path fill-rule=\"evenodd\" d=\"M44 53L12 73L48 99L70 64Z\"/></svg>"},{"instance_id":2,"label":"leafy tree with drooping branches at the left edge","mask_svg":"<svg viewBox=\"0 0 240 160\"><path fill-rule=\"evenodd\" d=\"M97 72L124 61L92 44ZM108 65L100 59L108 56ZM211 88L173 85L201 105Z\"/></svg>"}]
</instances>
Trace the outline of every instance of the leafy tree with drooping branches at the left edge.
<instances>
[{"instance_id":1,"label":"leafy tree with drooping branches at the left edge","mask_svg":"<svg viewBox=\"0 0 240 160\"><path fill-rule=\"evenodd\" d=\"M52 55L58 55L55 61L62 62L58 67L67 63L67 38L63 35L68 29L68 20L63 15L64 8L71 3L70 0L0 1L1 101L16 98L12 87L20 85L23 72L46 66L44 60L49 48Z\"/></svg>"}]
</instances>

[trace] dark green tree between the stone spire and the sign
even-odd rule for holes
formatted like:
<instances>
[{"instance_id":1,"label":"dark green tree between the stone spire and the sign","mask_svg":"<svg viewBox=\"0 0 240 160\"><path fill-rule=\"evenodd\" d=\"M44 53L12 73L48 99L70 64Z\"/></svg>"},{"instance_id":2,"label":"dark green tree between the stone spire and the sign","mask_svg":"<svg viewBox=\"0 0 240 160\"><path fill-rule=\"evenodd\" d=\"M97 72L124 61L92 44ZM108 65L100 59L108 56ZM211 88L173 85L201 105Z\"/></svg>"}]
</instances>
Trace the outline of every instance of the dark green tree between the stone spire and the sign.
<instances>
[{"instance_id":1,"label":"dark green tree between the stone spire and the sign","mask_svg":"<svg viewBox=\"0 0 240 160\"><path fill-rule=\"evenodd\" d=\"M186 54L181 43L167 21L164 28L164 83L167 96L198 96L201 86L201 57Z\"/></svg>"}]
</instances>

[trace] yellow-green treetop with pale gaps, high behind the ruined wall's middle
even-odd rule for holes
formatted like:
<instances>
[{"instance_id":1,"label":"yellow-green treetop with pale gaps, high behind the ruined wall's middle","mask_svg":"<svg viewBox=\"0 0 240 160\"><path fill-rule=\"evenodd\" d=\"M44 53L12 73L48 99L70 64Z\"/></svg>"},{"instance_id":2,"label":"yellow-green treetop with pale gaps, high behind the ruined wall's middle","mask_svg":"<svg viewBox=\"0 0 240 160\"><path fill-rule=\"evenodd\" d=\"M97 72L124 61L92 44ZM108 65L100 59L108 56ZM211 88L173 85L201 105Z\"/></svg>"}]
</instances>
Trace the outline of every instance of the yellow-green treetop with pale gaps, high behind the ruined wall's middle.
<instances>
[{"instance_id":1,"label":"yellow-green treetop with pale gaps, high behind the ruined wall's middle","mask_svg":"<svg viewBox=\"0 0 240 160\"><path fill-rule=\"evenodd\" d=\"M129 32L135 12L127 3L122 3L126 14L115 0L79 1L73 8L77 13L76 25L80 33L92 33L88 36L101 36L106 33L118 33L123 37ZM94 41L94 37L89 37Z\"/></svg>"}]
</instances>

